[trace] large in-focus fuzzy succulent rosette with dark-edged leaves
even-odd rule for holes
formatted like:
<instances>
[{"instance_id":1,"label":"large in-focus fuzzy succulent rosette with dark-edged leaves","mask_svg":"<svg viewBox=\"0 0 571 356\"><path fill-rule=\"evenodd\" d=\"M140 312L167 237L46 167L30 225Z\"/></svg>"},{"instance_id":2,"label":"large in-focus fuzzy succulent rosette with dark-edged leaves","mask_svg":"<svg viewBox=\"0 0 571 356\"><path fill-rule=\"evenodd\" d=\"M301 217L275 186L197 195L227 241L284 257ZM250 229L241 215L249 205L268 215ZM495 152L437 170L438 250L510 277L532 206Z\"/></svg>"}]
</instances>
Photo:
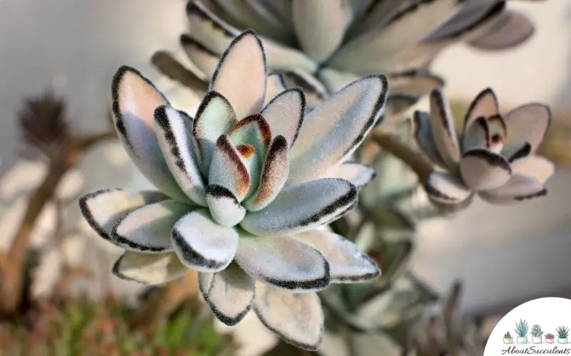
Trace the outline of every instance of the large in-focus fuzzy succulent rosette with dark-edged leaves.
<instances>
[{"instance_id":1,"label":"large in-focus fuzzy succulent rosette with dark-edged leaves","mask_svg":"<svg viewBox=\"0 0 571 356\"><path fill-rule=\"evenodd\" d=\"M80 205L93 229L126 249L113 267L119 278L163 283L191 268L223 323L235 325L253 305L269 329L313 350L323 333L314 292L380 274L353 243L316 228L356 204L350 180L374 175L343 160L380 117L387 81L362 78L305 115L300 89L266 79L253 31L223 53L194 119L120 68L116 128L160 192L101 190Z\"/></svg>"}]
</instances>

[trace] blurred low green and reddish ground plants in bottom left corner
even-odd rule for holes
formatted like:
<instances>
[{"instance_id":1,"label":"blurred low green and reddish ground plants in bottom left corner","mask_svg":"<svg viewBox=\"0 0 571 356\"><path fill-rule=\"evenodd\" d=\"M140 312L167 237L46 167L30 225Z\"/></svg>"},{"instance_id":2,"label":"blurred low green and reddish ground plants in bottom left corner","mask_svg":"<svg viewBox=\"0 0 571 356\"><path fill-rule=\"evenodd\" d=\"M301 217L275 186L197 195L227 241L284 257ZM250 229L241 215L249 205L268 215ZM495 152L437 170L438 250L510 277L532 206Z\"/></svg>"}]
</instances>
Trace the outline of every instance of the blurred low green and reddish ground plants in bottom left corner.
<instances>
[{"instance_id":1,"label":"blurred low green and reddish ground plants in bottom left corner","mask_svg":"<svg viewBox=\"0 0 571 356\"><path fill-rule=\"evenodd\" d=\"M198 300L186 300L168 318L131 328L133 308L113 295L103 300L56 292L11 323L0 323L2 355L233 355L231 337L220 335L201 315Z\"/></svg>"}]
</instances>

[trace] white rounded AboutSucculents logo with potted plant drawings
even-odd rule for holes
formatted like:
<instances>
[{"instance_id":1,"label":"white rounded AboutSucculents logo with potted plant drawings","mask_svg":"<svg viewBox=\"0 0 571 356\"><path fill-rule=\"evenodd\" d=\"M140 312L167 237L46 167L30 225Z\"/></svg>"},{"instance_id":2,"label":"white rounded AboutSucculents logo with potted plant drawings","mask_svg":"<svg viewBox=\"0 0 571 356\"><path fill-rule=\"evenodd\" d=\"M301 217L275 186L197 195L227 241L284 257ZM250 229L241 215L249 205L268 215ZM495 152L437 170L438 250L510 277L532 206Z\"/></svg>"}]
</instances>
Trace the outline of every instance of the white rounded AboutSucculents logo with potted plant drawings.
<instances>
[{"instance_id":1,"label":"white rounded AboutSucculents logo with potted plant drawings","mask_svg":"<svg viewBox=\"0 0 571 356\"><path fill-rule=\"evenodd\" d=\"M497 323L484 356L571 355L571 300L540 298L516 307Z\"/></svg>"}]
</instances>

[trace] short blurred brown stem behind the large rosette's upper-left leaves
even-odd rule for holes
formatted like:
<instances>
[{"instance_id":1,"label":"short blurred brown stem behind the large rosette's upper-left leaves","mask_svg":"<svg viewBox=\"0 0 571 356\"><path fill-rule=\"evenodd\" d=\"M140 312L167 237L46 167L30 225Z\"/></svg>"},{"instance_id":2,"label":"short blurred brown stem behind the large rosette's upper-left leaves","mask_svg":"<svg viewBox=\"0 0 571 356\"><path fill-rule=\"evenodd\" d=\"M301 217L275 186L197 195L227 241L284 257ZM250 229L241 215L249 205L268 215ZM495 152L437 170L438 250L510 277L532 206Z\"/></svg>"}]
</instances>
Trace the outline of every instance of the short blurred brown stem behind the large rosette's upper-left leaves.
<instances>
[{"instance_id":1,"label":"short blurred brown stem behind the large rosette's upper-left leaves","mask_svg":"<svg viewBox=\"0 0 571 356\"><path fill-rule=\"evenodd\" d=\"M181 63L178 63L171 53L157 51L151 57L151 63L168 78L190 88L198 95L203 95L208 90L208 83L198 78Z\"/></svg>"}]
</instances>

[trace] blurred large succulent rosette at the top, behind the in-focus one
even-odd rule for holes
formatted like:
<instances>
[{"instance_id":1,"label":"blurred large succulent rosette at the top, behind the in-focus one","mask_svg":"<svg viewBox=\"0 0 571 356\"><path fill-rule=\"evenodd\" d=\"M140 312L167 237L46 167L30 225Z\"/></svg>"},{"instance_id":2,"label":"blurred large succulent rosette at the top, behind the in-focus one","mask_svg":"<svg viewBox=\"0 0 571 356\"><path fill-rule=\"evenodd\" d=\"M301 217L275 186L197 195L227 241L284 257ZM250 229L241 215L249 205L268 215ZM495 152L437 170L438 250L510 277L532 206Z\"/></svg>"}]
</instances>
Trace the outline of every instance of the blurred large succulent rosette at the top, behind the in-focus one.
<instances>
[{"instance_id":1,"label":"blurred large succulent rosette at the top, behind the in-focus one","mask_svg":"<svg viewBox=\"0 0 571 356\"><path fill-rule=\"evenodd\" d=\"M506 0L189 0L186 13L181 43L207 78L234 36L253 28L268 66L288 87L304 88L308 107L360 76L385 73L387 115L443 85L428 66L444 48L512 48L534 30Z\"/></svg>"}]
</instances>

